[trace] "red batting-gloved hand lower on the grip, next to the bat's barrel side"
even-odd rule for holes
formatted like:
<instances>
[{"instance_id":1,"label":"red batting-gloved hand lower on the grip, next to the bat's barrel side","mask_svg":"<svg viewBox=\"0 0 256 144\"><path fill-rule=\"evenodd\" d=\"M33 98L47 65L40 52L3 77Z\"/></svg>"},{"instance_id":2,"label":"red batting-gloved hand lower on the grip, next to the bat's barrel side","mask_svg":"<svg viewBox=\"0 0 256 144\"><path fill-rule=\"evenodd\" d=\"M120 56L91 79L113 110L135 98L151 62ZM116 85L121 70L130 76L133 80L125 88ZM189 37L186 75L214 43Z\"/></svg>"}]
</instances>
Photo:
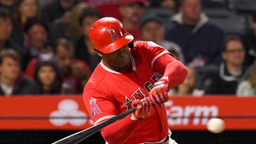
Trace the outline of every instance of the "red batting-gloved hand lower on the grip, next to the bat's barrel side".
<instances>
[{"instance_id":1,"label":"red batting-gloved hand lower on the grip, next to the bat's barrel side","mask_svg":"<svg viewBox=\"0 0 256 144\"><path fill-rule=\"evenodd\" d=\"M132 120L146 118L154 112L154 108L149 97L145 97L142 100L134 100L131 105L132 108L137 106L137 110L132 114Z\"/></svg>"}]
</instances>

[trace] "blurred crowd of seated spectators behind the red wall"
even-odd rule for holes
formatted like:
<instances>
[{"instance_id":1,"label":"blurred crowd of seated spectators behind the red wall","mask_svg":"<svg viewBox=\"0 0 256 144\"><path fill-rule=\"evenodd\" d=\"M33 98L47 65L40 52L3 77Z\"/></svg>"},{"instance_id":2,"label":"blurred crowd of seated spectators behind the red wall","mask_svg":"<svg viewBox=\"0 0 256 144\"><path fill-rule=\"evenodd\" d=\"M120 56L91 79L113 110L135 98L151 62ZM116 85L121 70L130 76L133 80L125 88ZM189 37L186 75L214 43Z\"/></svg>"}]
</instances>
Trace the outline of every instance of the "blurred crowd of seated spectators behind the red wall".
<instances>
[{"instance_id":1,"label":"blurred crowd of seated spectators behind the red wall","mask_svg":"<svg viewBox=\"0 0 256 144\"><path fill-rule=\"evenodd\" d=\"M256 13L236 7L232 0L0 0L0 94L81 94L101 61L89 29L111 16L134 41L153 41L187 66L170 95L256 95Z\"/></svg>"}]
</instances>

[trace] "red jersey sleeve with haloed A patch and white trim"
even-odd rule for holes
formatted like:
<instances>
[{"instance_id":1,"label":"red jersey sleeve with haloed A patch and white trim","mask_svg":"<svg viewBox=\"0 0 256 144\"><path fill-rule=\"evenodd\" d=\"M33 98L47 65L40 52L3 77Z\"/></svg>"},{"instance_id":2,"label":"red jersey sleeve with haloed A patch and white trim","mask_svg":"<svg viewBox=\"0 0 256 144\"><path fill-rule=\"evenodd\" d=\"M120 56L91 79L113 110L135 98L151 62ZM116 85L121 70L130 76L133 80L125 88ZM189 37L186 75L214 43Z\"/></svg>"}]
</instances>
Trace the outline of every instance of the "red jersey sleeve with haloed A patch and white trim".
<instances>
[{"instance_id":1,"label":"red jersey sleeve with haloed A patch and white trim","mask_svg":"<svg viewBox=\"0 0 256 144\"><path fill-rule=\"evenodd\" d=\"M94 125L117 115L114 100L106 92L96 88L86 89L83 98Z\"/></svg>"}]
</instances>

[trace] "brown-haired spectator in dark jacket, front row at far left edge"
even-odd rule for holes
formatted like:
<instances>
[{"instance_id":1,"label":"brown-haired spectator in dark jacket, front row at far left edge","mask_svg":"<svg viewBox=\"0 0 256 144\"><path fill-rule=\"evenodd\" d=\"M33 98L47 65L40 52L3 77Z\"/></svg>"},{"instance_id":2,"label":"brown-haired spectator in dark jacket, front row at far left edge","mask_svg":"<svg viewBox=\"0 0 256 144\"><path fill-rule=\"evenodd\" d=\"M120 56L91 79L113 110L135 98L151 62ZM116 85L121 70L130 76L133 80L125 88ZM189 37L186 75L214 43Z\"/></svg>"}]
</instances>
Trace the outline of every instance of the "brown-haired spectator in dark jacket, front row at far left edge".
<instances>
[{"instance_id":1,"label":"brown-haired spectator in dark jacket, front row at far left edge","mask_svg":"<svg viewBox=\"0 0 256 144\"><path fill-rule=\"evenodd\" d=\"M39 93L36 83L22 75L20 62L20 56L15 50L1 50L0 95L34 95Z\"/></svg>"}]
</instances>

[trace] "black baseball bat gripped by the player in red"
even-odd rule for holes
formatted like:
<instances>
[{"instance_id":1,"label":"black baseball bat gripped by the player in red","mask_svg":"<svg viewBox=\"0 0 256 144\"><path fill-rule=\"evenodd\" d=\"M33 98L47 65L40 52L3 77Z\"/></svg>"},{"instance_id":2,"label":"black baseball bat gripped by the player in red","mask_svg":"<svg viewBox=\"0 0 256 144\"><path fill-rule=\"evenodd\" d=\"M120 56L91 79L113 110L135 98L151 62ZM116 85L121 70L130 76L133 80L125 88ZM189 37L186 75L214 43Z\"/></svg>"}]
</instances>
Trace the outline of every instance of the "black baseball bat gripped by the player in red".
<instances>
[{"instance_id":1,"label":"black baseball bat gripped by the player in red","mask_svg":"<svg viewBox=\"0 0 256 144\"><path fill-rule=\"evenodd\" d=\"M136 111L136 107L130 108L129 110L127 110L123 113L120 113L117 116L112 117L111 119L108 119L107 121L104 121L104 122L97 124L93 127L90 127L90 128L81 130L80 132L69 135L68 137L60 139L57 142L54 142L52 144L77 144L77 143L81 142L82 140L86 139L87 137L90 137L92 134L98 132L100 129L128 116L129 114L131 114L135 111Z\"/></svg>"}]
</instances>

